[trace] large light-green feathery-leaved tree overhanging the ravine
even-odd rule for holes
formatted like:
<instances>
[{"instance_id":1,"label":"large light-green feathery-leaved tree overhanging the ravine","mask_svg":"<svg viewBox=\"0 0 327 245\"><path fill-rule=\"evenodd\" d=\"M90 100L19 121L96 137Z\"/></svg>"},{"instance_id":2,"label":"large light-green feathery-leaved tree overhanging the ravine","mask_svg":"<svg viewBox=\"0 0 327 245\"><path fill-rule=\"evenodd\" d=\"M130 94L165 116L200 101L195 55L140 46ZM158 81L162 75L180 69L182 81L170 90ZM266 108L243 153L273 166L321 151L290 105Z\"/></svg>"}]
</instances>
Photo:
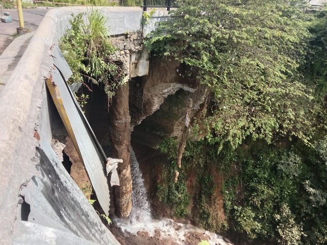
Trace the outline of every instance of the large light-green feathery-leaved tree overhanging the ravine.
<instances>
[{"instance_id":1,"label":"large light-green feathery-leaved tree overhanging the ravine","mask_svg":"<svg viewBox=\"0 0 327 245\"><path fill-rule=\"evenodd\" d=\"M315 132L320 110L298 67L310 33L300 1L186 0L152 33L154 54L189 67L184 76L211 93L206 140L236 148L247 136L268 142Z\"/></svg>"}]
</instances>

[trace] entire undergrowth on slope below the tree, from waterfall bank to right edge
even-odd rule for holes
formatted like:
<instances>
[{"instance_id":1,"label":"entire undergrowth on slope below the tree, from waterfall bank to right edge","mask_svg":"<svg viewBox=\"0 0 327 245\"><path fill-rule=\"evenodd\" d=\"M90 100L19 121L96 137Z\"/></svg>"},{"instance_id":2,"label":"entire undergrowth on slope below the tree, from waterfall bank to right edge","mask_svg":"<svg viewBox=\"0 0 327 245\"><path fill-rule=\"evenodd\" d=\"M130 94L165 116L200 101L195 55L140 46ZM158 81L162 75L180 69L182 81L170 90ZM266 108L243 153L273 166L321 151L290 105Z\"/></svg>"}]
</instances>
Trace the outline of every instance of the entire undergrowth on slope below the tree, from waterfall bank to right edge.
<instances>
[{"instance_id":1,"label":"entire undergrowth on slope below the tree, from waterfall bank to right edge","mask_svg":"<svg viewBox=\"0 0 327 245\"><path fill-rule=\"evenodd\" d=\"M174 183L177 142L168 138L159 145L171 162L158 186L159 200L177 217L192 218L197 225L219 233L228 226L250 244L325 244L327 137L317 140L314 148L301 142L291 145L287 139L281 145L285 144L250 140L217 155L218 144L215 148L205 141L189 142L182 169L178 169L181 176ZM218 201L212 200L219 184L209 170L213 167L225 176L222 194L228 225L210 209L210 204ZM185 187L192 169L197 172L194 196Z\"/></svg>"}]
</instances>

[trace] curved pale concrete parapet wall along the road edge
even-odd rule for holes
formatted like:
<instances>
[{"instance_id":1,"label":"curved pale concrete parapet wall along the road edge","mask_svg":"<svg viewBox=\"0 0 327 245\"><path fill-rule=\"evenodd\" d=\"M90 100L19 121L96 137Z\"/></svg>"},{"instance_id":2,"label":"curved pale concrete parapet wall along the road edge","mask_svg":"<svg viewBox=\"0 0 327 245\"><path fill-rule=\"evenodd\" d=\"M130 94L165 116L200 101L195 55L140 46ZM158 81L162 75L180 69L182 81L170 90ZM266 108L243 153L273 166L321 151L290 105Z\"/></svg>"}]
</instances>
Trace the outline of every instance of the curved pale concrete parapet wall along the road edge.
<instances>
[{"instance_id":1,"label":"curved pale concrete parapet wall along the road edge","mask_svg":"<svg viewBox=\"0 0 327 245\"><path fill-rule=\"evenodd\" d=\"M108 17L111 35L142 31L141 8L98 9ZM52 138L49 97L44 85L44 77L49 77L52 67L50 50L53 45L58 44L58 40L65 33L71 14L89 10L85 7L50 10L0 94L0 239L2 244L12 243L15 220L21 219L20 188L33 176L40 175L36 170L36 165L41 164L40 156L36 152L36 147L39 146L38 135L45 145L50 145ZM99 227L103 226L94 211L86 212L97 220ZM110 234L108 231L108 236Z\"/></svg>"}]
</instances>

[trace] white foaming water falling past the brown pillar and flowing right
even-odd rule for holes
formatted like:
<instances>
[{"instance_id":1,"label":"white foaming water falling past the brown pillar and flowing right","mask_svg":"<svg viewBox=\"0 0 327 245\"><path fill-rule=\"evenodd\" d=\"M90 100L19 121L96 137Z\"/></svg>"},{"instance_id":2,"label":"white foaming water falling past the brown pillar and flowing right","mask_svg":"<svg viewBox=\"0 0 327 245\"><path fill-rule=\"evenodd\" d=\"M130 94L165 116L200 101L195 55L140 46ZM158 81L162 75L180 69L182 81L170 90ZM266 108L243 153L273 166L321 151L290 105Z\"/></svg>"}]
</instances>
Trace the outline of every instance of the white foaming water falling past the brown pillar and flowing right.
<instances>
[{"instance_id":1,"label":"white foaming water falling past the brown pillar and flowing right","mask_svg":"<svg viewBox=\"0 0 327 245\"><path fill-rule=\"evenodd\" d=\"M171 238L174 242L179 244L184 244L183 241L185 241L186 236L189 236L190 234L201 234L201 236L205 237L210 244L231 244L225 242L220 235L205 231L192 225L176 223L174 220L168 218L152 218L142 173L132 149L131 171L133 181L131 215L128 218L115 217L113 219L116 226L120 227L123 232L136 235L137 232L141 231L147 232L149 236L154 236L159 230L162 238Z\"/></svg>"}]
</instances>

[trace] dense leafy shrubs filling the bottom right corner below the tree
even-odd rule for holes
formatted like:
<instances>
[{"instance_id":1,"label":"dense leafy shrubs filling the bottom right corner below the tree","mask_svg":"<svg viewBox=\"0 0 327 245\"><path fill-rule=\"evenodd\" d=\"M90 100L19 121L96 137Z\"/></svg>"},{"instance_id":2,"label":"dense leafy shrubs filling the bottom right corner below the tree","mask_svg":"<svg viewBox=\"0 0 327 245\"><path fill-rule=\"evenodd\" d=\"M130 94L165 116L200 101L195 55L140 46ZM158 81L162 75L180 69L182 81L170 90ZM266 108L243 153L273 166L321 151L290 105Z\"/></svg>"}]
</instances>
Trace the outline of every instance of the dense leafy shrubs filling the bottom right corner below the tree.
<instances>
[{"instance_id":1,"label":"dense leafy shrubs filling the bottom right corner below the tree","mask_svg":"<svg viewBox=\"0 0 327 245\"><path fill-rule=\"evenodd\" d=\"M233 229L250 239L277 239L280 244L325 244L327 139L317 141L315 149L252 146L239 159L239 174L224 184L225 211Z\"/></svg>"}]
</instances>

